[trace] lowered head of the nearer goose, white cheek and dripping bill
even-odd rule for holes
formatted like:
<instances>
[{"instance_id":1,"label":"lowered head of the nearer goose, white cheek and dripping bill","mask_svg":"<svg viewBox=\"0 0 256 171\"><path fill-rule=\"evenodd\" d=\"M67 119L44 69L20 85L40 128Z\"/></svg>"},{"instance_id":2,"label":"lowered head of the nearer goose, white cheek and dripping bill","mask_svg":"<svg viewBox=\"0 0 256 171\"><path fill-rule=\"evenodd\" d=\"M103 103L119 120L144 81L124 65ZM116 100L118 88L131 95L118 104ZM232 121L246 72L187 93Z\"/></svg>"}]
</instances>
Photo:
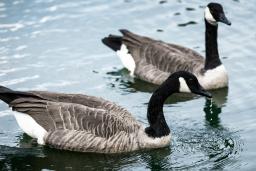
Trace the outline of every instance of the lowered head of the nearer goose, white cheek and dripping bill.
<instances>
[{"instance_id":1,"label":"lowered head of the nearer goose, white cheek and dripping bill","mask_svg":"<svg viewBox=\"0 0 256 171\"><path fill-rule=\"evenodd\" d=\"M208 98L212 97L212 95L204 90L204 88L199 84L196 76L190 72L179 71L172 74L170 77L178 80L179 89L177 90L177 92L188 92Z\"/></svg>"}]
</instances>

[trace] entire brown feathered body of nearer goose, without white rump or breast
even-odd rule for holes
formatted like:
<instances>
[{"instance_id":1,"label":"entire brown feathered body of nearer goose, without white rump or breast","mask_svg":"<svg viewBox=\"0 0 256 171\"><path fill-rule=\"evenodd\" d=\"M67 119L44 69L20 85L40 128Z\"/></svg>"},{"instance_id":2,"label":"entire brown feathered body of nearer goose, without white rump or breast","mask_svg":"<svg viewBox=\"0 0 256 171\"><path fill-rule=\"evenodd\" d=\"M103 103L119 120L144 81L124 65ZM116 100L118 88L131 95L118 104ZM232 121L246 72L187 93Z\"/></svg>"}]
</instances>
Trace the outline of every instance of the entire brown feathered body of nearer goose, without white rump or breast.
<instances>
[{"instance_id":1,"label":"entire brown feathered body of nearer goose, without white rump or breast","mask_svg":"<svg viewBox=\"0 0 256 171\"><path fill-rule=\"evenodd\" d=\"M139 148L142 126L125 109L102 98L36 91L8 94L15 97L9 102L14 111L26 113L46 130L43 144L98 153Z\"/></svg>"}]
</instances>

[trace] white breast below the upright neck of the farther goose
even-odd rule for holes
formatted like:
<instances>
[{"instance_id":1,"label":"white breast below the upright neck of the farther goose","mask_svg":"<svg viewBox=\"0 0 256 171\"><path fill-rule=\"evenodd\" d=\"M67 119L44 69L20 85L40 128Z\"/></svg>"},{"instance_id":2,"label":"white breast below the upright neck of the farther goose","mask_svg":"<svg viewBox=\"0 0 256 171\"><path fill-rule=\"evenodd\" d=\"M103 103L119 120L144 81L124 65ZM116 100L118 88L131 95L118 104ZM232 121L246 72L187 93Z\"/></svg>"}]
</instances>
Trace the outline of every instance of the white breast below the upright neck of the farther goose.
<instances>
[{"instance_id":1,"label":"white breast below the upright neck of the farther goose","mask_svg":"<svg viewBox=\"0 0 256 171\"><path fill-rule=\"evenodd\" d=\"M228 73L223 65L207 70L204 75L199 75L197 78L201 86L206 90L228 86Z\"/></svg>"}]
</instances>

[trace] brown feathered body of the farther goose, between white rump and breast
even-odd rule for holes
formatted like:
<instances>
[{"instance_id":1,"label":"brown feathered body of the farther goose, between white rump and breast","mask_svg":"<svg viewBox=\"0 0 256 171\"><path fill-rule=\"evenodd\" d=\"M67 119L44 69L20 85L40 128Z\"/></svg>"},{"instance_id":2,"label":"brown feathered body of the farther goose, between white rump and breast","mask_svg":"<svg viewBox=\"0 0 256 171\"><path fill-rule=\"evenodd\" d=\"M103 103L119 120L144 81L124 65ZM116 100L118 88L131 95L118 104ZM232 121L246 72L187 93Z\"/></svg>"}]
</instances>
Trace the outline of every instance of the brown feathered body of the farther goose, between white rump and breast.
<instances>
[{"instance_id":1,"label":"brown feathered body of the farther goose, between white rump and breast","mask_svg":"<svg viewBox=\"0 0 256 171\"><path fill-rule=\"evenodd\" d=\"M161 84L176 71L199 74L204 68L204 58L189 48L168 44L127 30L122 41L136 63L135 75L145 81Z\"/></svg>"}]
</instances>

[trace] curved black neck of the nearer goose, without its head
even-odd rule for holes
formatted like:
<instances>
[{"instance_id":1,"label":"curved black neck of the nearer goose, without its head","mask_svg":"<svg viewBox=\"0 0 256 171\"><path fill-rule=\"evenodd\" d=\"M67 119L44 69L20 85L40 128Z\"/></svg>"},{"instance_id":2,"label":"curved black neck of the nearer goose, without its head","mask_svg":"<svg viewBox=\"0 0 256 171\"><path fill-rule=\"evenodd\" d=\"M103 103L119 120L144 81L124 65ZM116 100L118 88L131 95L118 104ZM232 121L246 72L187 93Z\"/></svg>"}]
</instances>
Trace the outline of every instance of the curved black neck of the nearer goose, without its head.
<instances>
[{"instance_id":1,"label":"curved black neck of the nearer goose, without its head","mask_svg":"<svg viewBox=\"0 0 256 171\"><path fill-rule=\"evenodd\" d=\"M148 136L162 137L170 134L164 118L163 105L171 94L178 91L177 87L179 87L178 81L167 79L151 96L147 112L149 127L145 129Z\"/></svg>"}]
</instances>

